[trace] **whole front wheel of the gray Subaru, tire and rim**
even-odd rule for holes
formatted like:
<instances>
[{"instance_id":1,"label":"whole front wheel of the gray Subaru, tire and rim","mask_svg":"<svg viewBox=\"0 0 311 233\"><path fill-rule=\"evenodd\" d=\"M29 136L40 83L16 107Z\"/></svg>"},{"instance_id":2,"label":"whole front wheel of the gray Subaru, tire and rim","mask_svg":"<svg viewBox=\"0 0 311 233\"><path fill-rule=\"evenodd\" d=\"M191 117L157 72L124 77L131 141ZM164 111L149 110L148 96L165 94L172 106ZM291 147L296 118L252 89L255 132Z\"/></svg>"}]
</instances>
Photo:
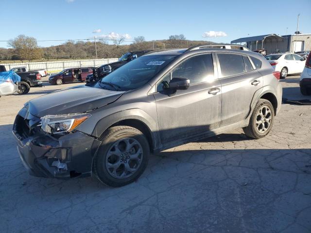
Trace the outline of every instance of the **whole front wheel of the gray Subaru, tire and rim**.
<instances>
[{"instance_id":1,"label":"whole front wheel of the gray Subaru, tire and rim","mask_svg":"<svg viewBox=\"0 0 311 233\"><path fill-rule=\"evenodd\" d=\"M101 136L101 141L93 159L93 174L112 187L136 181L145 170L150 154L143 133L133 127L116 126L109 128Z\"/></svg>"}]
</instances>

